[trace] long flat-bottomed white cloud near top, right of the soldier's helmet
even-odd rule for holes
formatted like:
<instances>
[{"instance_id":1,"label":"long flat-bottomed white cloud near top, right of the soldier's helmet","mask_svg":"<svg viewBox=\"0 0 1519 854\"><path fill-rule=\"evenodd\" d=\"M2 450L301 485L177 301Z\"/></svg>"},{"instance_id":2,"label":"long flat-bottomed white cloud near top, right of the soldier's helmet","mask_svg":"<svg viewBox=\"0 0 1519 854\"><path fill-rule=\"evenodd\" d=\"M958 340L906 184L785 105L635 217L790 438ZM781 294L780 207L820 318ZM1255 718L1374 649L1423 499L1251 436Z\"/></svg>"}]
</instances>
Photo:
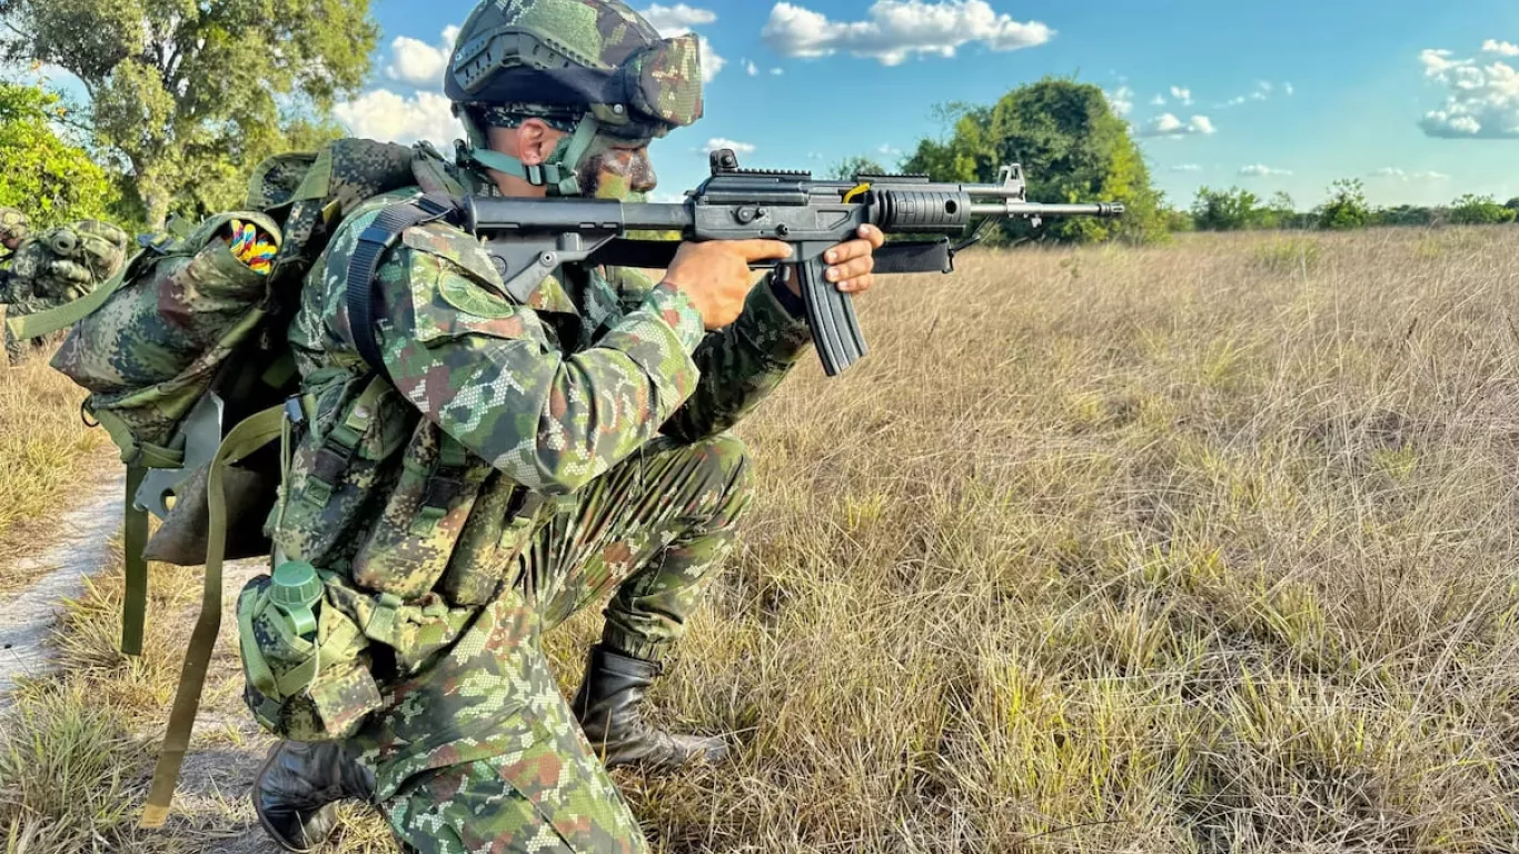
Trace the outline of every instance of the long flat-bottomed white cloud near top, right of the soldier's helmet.
<instances>
[{"instance_id":1,"label":"long flat-bottomed white cloud near top, right of the soldier's helmet","mask_svg":"<svg viewBox=\"0 0 1519 854\"><path fill-rule=\"evenodd\" d=\"M969 43L992 50L1044 44L1054 30L1039 21L1015 21L986 0L875 0L863 21L831 21L791 3L776 3L761 38L782 56L826 56L846 50L883 65L898 65L914 53L954 56Z\"/></svg>"}]
</instances>

